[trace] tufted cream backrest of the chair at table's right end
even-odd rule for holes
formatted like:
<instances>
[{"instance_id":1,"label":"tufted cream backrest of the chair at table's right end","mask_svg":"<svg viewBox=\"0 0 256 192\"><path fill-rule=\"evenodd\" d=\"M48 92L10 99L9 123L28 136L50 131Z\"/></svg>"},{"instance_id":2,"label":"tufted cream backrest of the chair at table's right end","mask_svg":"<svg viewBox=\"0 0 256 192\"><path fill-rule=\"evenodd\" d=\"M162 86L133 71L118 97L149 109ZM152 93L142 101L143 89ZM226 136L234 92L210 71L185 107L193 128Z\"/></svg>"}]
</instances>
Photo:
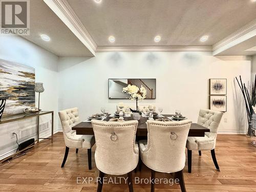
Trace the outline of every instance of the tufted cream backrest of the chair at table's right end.
<instances>
[{"instance_id":1,"label":"tufted cream backrest of the chair at table's right end","mask_svg":"<svg viewBox=\"0 0 256 192\"><path fill-rule=\"evenodd\" d=\"M219 111L201 109L199 112L197 124L210 129L210 132L205 133L205 135L207 135L209 138L216 137L222 115L223 113Z\"/></svg>"}]
</instances>

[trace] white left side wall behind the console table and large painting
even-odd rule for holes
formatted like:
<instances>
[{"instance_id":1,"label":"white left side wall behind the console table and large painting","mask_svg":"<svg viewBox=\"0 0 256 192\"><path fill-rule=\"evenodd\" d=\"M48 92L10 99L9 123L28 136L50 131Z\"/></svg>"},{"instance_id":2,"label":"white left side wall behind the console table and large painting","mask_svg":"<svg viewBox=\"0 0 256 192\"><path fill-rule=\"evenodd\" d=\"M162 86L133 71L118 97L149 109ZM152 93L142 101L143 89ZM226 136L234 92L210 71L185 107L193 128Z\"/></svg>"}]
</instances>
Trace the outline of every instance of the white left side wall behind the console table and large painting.
<instances>
[{"instance_id":1,"label":"white left side wall behind the console table and large painting","mask_svg":"<svg viewBox=\"0 0 256 192\"><path fill-rule=\"evenodd\" d=\"M40 108L45 111L54 111L54 128L56 130L58 127L58 57L22 37L0 36L0 58L35 68L36 82L43 82L45 87L45 92L40 96ZM51 115L47 115L41 117L40 121L47 122L50 119ZM15 138L10 138L11 132L18 132L32 124L35 124L35 118L0 125L0 159L17 148Z\"/></svg>"}]
</instances>

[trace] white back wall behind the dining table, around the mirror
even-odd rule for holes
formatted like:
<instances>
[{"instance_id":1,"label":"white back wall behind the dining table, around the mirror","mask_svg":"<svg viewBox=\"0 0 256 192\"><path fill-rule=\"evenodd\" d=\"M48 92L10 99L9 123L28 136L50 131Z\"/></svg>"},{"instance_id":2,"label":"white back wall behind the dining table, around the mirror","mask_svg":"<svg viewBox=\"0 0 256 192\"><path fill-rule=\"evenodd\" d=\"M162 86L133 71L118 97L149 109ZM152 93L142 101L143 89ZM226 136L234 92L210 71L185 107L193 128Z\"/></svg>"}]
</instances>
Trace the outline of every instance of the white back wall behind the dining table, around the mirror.
<instances>
[{"instance_id":1,"label":"white back wall behind the dining table, around the mirror","mask_svg":"<svg viewBox=\"0 0 256 192\"><path fill-rule=\"evenodd\" d=\"M81 119L98 113L101 106L114 112L118 102L134 103L108 99L109 78L156 78L156 99L142 103L163 106L163 114L180 109L195 122L199 110L208 108L208 79L227 78L227 113L220 131L245 131L244 102L234 84L235 76L242 75L245 82L251 78L251 61L245 57L214 57L205 52L110 52L93 58L60 57L58 67L59 109L78 106Z\"/></svg>"}]
</instances>

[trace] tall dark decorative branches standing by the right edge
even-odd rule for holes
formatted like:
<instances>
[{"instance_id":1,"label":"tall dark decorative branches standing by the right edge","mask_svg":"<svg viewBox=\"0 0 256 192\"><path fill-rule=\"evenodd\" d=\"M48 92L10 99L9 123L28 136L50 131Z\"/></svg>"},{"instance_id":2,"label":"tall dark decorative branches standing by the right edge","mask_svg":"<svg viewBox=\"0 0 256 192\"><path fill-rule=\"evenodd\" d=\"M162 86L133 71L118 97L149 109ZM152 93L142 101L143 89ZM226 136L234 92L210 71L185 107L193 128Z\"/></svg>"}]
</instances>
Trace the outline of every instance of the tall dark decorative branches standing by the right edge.
<instances>
[{"instance_id":1,"label":"tall dark decorative branches standing by the right edge","mask_svg":"<svg viewBox=\"0 0 256 192\"><path fill-rule=\"evenodd\" d=\"M256 104L256 75L254 79L254 84L252 83L252 89L248 91L247 87L245 86L245 83L243 83L241 75L239 76L239 80L236 77L238 85L242 91L244 101L245 101L245 108L247 113L247 121L248 121L248 130L247 130L247 136L253 137L253 132L251 129L251 119L252 115L254 114L252 106L255 106Z\"/></svg>"}]
</instances>

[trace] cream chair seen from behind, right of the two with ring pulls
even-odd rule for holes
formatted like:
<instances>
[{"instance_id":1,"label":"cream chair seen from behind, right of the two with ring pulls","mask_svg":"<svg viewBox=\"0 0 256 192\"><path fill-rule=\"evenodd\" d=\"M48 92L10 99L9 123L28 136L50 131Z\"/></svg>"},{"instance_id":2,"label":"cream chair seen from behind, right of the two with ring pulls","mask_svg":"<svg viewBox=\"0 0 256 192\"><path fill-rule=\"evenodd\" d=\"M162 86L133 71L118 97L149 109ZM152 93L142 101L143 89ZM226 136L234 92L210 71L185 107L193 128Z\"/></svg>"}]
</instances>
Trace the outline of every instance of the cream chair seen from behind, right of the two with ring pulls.
<instances>
[{"instance_id":1,"label":"cream chair seen from behind, right of the two with ring pulls","mask_svg":"<svg viewBox=\"0 0 256 192\"><path fill-rule=\"evenodd\" d=\"M147 120L147 140L139 141L142 162L151 168L151 191L155 190L155 172L175 173L181 191L186 191L183 168L190 120L179 122Z\"/></svg>"}]
</instances>

